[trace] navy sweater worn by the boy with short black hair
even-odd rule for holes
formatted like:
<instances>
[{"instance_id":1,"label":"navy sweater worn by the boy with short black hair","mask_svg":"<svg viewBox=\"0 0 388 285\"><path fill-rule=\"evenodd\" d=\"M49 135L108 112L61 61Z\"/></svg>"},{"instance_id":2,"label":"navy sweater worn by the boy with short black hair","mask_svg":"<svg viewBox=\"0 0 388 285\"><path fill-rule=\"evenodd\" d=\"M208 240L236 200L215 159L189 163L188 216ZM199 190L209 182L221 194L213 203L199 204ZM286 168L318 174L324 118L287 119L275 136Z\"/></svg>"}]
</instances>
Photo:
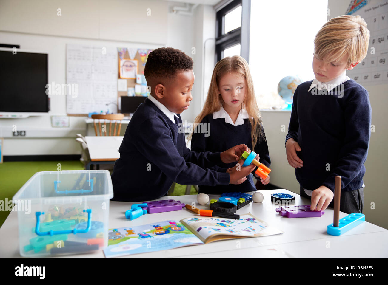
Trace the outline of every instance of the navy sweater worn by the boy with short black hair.
<instances>
[{"instance_id":1,"label":"navy sweater worn by the boy with short black hair","mask_svg":"<svg viewBox=\"0 0 388 285\"><path fill-rule=\"evenodd\" d=\"M229 184L229 173L204 169L222 163L221 153L187 149L184 133L148 98L133 114L119 152L111 175L115 201L158 199L174 181Z\"/></svg>"}]
</instances>

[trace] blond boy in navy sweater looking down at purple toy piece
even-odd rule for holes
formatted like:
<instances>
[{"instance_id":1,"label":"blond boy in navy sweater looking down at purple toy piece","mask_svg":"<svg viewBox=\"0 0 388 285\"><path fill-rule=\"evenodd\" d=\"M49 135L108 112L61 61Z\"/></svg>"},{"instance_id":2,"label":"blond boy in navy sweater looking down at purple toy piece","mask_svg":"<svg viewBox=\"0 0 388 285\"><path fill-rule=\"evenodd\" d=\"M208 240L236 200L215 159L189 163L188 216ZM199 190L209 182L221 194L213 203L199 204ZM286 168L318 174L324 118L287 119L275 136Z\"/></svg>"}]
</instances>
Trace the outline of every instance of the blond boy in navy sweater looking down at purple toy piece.
<instances>
[{"instance_id":1,"label":"blond boy in navy sweater looking down at purple toy piece","mask_svg":"<svg viewBox=\"0 0 388 285\"><path fill-rule=\"evenodd\" d=\"M311 210L333 207L339 175L340 210L362 213L372 110L367 90L345 73L365 58L368 43L360 16L330 19L315 36L315 79L295 90L286 154Z\"/></svg>"}]
</instances>

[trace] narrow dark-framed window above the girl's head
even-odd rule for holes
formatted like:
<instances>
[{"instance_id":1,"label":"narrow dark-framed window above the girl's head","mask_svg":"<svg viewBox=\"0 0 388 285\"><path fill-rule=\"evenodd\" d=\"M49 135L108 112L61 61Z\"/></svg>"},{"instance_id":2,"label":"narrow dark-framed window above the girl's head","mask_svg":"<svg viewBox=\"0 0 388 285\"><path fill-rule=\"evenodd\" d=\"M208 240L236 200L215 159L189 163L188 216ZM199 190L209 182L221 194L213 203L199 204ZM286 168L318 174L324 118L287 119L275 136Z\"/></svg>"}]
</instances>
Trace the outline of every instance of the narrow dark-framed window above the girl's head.
<instances>
[{"instance_id":1,"label":"narrow dark-framed window above the girl's head","mask_svg":"<svg viewBox=\"0 0 388 285\"><path fill-rule=\"evenodd\" d=\"M217 35L216 35L216 60L224 57L241 55L242 50L248 50L247 41L241 45L241 38L244 35L242 19L248 12L244 12L243 5L249 7L250 0L234 0L217 12ZM248 9L247 9L248 11ZM250 15L245 18L249 18ZM246 33L246 32L245 32ZM242 56L242 55L241 55Z\"/></svg>"}]
</instances>

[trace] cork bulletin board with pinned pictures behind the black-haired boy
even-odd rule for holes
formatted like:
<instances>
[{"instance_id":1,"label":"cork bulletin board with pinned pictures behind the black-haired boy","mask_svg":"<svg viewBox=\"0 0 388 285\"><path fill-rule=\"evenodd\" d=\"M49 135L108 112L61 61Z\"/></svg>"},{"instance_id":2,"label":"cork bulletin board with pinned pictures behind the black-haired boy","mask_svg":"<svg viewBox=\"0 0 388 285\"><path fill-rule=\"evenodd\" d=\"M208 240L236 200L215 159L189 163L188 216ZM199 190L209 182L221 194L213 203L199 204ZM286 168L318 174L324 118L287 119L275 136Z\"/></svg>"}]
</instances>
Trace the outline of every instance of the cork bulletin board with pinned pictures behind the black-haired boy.
<instances>
[{"instance_id":1,"label":"cork bulletin board with pinned pictures behind the black-haired boy","mask_svg":"<svg viewBox=\"0 0 388 285\"><path fill-rule=\"evenodd\" d=\"M144 67L151 49L117 48L118 109L121 96L148 96ZM133 67L136 65L136 67ZM135 74L135 77L133 77Z\"/></svg>"}]
</instances>

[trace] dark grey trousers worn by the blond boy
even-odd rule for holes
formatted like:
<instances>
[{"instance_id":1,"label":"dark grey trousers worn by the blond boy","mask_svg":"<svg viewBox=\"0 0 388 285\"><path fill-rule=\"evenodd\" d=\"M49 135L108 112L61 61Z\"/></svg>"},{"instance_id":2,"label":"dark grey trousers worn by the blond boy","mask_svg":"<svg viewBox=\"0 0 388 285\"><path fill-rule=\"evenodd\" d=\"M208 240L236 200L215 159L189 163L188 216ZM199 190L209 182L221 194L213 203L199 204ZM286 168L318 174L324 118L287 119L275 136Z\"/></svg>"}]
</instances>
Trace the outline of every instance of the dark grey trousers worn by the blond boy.
<instances>
[{"instance_id":1,"label":"dark grey trousers worn by the blond boy","mask_svg":"<svg viewBox=\"0 0 388 285\"><path fill-rule=\"evenodd\" d=\"M303 187L300 187L300 195L302 197L308 198L311 200L311 197L308 196L303 190ZM329 207L334 208L334 199L330 202ZM341 201L340 201L340 211L345 212L346 214L352 213L361 213L364 207L364 188L360 188L353 191L341 191Z\"/></svg>"}]
</instances>

